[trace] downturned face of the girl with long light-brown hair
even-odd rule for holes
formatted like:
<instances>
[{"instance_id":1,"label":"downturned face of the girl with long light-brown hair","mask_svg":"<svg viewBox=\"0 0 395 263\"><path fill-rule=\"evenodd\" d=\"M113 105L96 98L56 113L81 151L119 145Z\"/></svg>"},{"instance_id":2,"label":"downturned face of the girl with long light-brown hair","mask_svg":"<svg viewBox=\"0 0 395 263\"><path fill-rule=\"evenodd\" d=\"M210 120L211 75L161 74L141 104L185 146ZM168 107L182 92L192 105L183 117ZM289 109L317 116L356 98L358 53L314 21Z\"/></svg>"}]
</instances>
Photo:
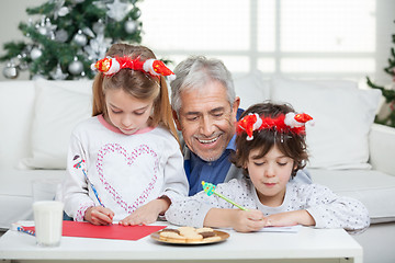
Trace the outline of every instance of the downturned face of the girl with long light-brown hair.
<instances>
[{"instance_id":1,"label":"downturned face of the girl with long light-brown hair","mask_svg":"<svg viewBox=\"0 0 395 263\"><path fill-rule=\"evenodd\" d=\"M153 104L151 100L137 100L122 89L108 90L105 92L108 114L104 118L122 133L131 135L148 126Z\"/></svg>"}]
</instances>

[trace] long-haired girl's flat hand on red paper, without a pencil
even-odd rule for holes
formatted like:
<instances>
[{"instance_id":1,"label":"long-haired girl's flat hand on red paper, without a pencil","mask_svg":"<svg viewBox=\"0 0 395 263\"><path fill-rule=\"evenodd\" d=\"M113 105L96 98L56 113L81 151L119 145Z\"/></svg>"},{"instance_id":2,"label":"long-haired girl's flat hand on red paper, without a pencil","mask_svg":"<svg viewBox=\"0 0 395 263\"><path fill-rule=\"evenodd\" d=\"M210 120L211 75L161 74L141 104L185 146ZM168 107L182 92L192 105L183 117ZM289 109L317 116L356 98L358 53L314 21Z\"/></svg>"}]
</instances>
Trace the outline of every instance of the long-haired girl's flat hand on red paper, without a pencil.
<instances>
[{"instance_id":1,"label":"long-haired girl's flat hand on red paper, without a pencil","mask_svg":"<svg viewBox=\"0 0 395 263\"><path fill-rule=\"evenodd\" d=\"M158 216L165 213L170 206L168 198L159 198L138 207L132 215L120 221L123 226L149 225L158 219Z\"/></svg>"}]
</instances>

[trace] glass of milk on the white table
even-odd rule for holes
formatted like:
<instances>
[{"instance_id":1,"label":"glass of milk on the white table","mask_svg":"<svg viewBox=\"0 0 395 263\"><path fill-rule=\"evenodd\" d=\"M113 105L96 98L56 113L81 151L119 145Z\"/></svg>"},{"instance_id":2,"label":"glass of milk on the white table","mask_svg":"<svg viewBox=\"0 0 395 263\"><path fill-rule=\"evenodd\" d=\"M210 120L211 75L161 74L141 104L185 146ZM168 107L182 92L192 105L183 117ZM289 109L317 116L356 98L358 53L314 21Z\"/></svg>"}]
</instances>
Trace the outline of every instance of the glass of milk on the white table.
<instances>
[{"instance_id":1,"label":"glass of milk on the white table","mask_svg":"<svg viewBox=\"0 0 395 263\"><path fill-rule=\"evenodd\" d=\"M33 203L36 242L41 247L60 244L64 204L58 201Z\"/></svg>"}]
</instances>

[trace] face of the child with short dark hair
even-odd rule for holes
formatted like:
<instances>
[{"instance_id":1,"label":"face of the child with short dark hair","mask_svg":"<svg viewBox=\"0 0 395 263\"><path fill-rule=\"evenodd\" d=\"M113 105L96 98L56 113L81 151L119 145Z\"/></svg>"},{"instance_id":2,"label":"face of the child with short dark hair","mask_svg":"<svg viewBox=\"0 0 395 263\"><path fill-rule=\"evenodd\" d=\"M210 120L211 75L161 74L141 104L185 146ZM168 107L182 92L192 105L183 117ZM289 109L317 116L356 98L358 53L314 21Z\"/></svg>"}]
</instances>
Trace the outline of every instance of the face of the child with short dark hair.
<instances>
[{"instance_id":1,"label":"face of the child with short dark hair","mask_svg":"<svg viewBox=\"0 0 395 263\"><path fill-rule=\"evenodd\" d=\"M282 153L276 146L257 159L259 149L251 150L248 157L248 174L263 205L280 206L285 195L286 183L295 168L294 160Z\"/></svg>"}]
</instances>

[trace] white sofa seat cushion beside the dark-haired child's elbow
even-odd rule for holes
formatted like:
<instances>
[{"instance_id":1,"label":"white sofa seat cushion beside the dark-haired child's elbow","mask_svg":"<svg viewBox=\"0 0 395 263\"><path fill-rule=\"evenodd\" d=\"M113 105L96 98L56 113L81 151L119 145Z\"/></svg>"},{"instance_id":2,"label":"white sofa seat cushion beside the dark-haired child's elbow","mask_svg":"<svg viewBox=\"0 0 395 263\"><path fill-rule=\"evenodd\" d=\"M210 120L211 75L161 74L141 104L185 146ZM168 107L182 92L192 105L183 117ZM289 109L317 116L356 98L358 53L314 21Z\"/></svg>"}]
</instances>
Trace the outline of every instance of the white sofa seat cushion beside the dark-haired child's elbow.
<instances>
[{"instance_id":1,"label":"white sofa seat cushion beside the dark-haired child's elbow","mask_svg":"<svg viewBox=\"0 0 395 263\"><path fill-rule=\"evenodd\" d=\"M395 221L395 176L373 170L308 169L313 182L362 202L371 224Z\"/></svg>"}]
</instances>

